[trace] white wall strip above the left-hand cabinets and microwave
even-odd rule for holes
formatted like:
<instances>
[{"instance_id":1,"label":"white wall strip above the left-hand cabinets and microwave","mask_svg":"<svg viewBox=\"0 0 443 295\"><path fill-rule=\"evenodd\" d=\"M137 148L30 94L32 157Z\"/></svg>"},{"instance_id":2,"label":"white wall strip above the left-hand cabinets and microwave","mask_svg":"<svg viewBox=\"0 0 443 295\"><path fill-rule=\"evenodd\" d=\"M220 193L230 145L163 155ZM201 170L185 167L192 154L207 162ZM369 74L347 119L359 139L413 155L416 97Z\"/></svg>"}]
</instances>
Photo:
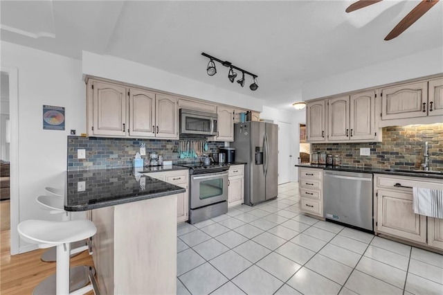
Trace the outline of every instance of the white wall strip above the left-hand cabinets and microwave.
<instances>
[{"instance_id":1,"label":"white wall strip above the left-hand cabinets and microwave","mask_svg":"<svg viewBox=\"0 0 443 295\"><path fill-rule=\"evenodd\" d=\"M183 96L262 111L263 100L219 89L203 82L110 55L98 55L83 51L82 71L84 75L93 75Z\"/></svg>"}]
</instances>

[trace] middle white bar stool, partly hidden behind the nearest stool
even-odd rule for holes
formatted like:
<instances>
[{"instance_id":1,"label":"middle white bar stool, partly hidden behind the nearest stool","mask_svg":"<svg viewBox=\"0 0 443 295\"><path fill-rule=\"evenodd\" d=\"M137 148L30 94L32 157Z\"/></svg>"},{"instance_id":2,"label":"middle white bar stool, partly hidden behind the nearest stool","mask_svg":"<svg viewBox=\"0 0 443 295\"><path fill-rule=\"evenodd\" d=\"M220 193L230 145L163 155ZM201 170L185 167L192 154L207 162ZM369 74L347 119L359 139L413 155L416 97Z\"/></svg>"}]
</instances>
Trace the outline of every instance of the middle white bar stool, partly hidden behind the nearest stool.
<instances>
[{"instance_id":1,"label":"middle white bar stool, partly hidden behind the nearest stool","mask_svg":"<svg viewBox=\"0 0 443 295\"><path fill-rule=\"evenodd\" d=\"M45 190L48 188L45 188ZM51 188L49 188L51 189ZM71 213L64 210L64 197L56 196L56 195L41 195L35 199L41 208L49 211L49 214L63 214L62 220L68 221L71 220ZM87 244L84 241L78 241L71 244L71 257L77 256L82 251L87 250ZM52 247L45 251L42 254L43 262L55 262L56 250L55 247Z\"/></svg>"}]
</instances>

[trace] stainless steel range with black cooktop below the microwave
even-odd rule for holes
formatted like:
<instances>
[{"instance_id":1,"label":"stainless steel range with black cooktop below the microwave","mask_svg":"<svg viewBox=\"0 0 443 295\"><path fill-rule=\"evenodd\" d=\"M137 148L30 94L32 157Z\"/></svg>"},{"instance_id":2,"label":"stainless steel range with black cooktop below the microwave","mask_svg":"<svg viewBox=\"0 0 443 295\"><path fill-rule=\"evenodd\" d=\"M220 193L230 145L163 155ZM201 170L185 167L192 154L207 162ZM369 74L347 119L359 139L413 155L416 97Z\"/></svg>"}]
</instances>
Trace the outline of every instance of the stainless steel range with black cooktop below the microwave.
<instances>
[{"instance_id":1,"label":"stainless steel range with black cooktop below the microwave","mask_svg":"<svg viewBox=\"0 0 443 295\"><path fill-rule=\"evenodd\" d=\"M190 168L189 223L228 212L228 164L203 163L180 165Z\"/></svg>"}]
</instances>

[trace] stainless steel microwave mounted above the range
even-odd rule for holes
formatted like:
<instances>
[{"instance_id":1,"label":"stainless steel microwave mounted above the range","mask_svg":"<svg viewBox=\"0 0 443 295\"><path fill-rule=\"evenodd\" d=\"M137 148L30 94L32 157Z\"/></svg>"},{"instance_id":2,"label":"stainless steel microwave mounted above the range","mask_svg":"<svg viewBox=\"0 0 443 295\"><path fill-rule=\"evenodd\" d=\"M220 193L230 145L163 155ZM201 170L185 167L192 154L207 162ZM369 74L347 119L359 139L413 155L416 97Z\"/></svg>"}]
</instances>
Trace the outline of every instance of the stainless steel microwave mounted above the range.
<instances>
[{"instance_id":1,"label":"stainless steel microwave mounted above the range","mask_svg":"<svg viewBox=\"0 0 443 295\"><path fill-rule=\"evenodd\" d=\"M180 109L180 134L217 135L217 114Z\"/></svg>"}]
</instances>

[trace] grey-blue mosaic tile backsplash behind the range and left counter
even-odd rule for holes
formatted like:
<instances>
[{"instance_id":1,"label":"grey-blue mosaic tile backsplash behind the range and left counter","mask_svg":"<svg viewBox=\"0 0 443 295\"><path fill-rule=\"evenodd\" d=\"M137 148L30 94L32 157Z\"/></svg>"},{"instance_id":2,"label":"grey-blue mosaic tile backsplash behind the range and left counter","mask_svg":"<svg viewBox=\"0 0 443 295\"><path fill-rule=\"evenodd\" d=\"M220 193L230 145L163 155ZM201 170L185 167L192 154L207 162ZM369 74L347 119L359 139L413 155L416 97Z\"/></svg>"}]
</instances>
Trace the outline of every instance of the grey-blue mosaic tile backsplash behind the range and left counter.
<instances>
[{"instance_id":1,"label":"grey-blue mosaic tile backsplash behind the range and left counter","mask_svg":"<svg viewBox=\"0 0 443 295\"><path fill-rule=\"evenodd\" d=\"M150 152L157 152L163 156L163 161L172 161L174 164L201 159L180 159L177 140L68 136L68 170L132 167L136 152L140 152L141 143L146 145L146 156L142 156L143 159L149 157ZM219 147L224 147L223 142L207 143L206 154L218 152ZM86 150L86 159L77 158L78 149Z\"/></svg>"}]
</instances>

